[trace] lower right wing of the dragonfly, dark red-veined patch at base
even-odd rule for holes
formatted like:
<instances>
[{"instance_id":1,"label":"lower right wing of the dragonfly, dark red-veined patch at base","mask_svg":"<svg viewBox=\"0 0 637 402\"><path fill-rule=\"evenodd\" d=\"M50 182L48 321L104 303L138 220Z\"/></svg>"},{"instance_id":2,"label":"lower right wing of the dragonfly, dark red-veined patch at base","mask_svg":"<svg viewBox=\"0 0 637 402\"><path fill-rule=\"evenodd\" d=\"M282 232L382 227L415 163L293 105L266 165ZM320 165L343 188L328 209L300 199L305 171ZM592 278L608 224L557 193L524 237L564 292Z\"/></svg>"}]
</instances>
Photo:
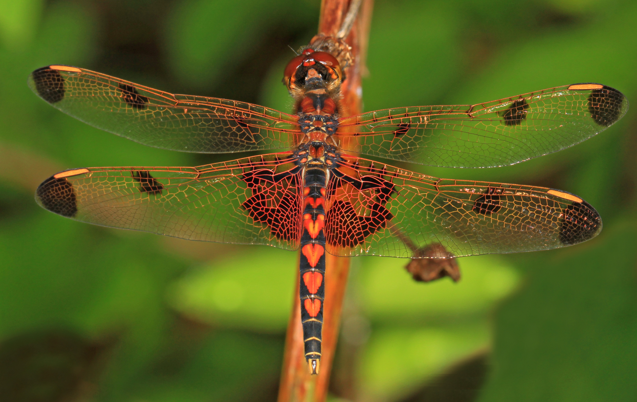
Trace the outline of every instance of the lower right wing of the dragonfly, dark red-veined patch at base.
<instances>
[{"instance_id":1,"label":"lower right wing of the dragonfly, dark red-veined patch at base","mask_svg":"<svg viewBox=\"0 0 637 402\"><path fill-rule=\"evenodd\" d=\"M455 256L559 248L592 239L599 214L564 191L436 179L343 156L327 188L327 251L418 257L440 243Z\"/></svg>"}]
</instances>

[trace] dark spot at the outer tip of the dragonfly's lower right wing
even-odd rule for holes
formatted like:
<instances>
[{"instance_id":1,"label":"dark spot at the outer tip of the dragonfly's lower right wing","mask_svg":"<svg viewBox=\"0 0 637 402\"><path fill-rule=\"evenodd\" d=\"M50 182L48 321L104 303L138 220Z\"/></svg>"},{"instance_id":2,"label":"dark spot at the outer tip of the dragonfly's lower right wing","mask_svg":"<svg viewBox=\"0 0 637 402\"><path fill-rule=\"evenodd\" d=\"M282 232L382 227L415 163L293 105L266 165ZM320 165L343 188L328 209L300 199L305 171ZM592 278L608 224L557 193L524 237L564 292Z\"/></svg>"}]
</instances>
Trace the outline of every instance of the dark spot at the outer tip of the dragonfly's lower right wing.
<instances>
[{"instance_id":1,"label":"dark spot at the outer tip of the dragonfly's lower right wing","mask_svg":"<svg viewBox=\"0 0 637 402\"><path fill-rule=\"evenodd\" d=\"M585 201L568 205L563 219L559 240L567 246L592 239L601 230L598 212Z\"/></svg>"}]
</instances>

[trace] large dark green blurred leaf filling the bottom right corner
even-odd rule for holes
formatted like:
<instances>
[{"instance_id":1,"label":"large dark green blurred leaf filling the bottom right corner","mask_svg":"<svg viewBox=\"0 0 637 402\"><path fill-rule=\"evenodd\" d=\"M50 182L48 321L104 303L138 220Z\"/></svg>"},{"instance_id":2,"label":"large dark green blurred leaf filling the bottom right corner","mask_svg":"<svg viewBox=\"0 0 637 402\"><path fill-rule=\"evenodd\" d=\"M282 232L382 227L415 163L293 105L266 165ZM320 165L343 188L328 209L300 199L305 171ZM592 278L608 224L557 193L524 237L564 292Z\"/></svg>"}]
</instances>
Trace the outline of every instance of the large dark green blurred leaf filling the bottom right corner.
<instances>
[{"instance_id":1,"label":"large dark green blurred leaf filling the bottom right corner","mask_svg":"<svg viewBox=\"0 0 637 402\"><path fill-rule=\"evenodd\" d=\"M637 231L622 221L527 267L527 286L497 311L480 401L634 400Z\"/></svg>"}]
</instances>

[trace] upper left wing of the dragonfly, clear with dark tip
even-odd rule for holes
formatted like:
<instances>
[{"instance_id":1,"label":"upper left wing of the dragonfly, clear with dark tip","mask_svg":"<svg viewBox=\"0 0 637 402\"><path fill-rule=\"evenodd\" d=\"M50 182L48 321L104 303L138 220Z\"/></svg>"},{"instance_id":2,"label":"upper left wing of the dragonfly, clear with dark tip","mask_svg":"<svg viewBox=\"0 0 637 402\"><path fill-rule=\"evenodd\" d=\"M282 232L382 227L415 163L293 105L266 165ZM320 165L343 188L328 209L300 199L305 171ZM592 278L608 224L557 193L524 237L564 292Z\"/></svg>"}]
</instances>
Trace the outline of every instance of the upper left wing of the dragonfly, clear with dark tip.
<instances>
[{"instance_id":1,"label":"upper left wing of the dragonfly, clear with dark tip","mask_svg":"<svg viewBox=\"0 0 637 402\"><path fill-rule=\"evenodd\" d=\"M152 147L196 153L289 149L297 117L250 103L170 94L71 66L29 76L40 98L76 119Z\"/></svg>"}]
</instances>

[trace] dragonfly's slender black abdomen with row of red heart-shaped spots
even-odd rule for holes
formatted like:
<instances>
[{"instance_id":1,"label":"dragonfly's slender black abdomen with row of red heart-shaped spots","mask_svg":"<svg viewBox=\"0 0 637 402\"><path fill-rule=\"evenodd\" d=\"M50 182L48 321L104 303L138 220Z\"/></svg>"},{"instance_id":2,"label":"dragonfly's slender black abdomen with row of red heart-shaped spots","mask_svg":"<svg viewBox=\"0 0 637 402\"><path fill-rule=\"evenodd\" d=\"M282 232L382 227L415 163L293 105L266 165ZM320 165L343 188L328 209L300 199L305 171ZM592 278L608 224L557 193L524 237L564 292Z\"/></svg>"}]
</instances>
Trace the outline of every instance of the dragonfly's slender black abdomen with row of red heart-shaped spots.
<instances>
[{"instance_id":1,"label":"dragonfly's slender black abdomen with row of red heart-shaped spots","mask_svg":"<svg viewBox=\"0 0 637 402\"><path fill-rule=\"evenodd\" d=\"M325 297L325 195L327 169L308 167L303 172L303 234L301 235L301 323L305 358L317 374L321 356L321 329Z\"/></svg>"}]
</instances>

